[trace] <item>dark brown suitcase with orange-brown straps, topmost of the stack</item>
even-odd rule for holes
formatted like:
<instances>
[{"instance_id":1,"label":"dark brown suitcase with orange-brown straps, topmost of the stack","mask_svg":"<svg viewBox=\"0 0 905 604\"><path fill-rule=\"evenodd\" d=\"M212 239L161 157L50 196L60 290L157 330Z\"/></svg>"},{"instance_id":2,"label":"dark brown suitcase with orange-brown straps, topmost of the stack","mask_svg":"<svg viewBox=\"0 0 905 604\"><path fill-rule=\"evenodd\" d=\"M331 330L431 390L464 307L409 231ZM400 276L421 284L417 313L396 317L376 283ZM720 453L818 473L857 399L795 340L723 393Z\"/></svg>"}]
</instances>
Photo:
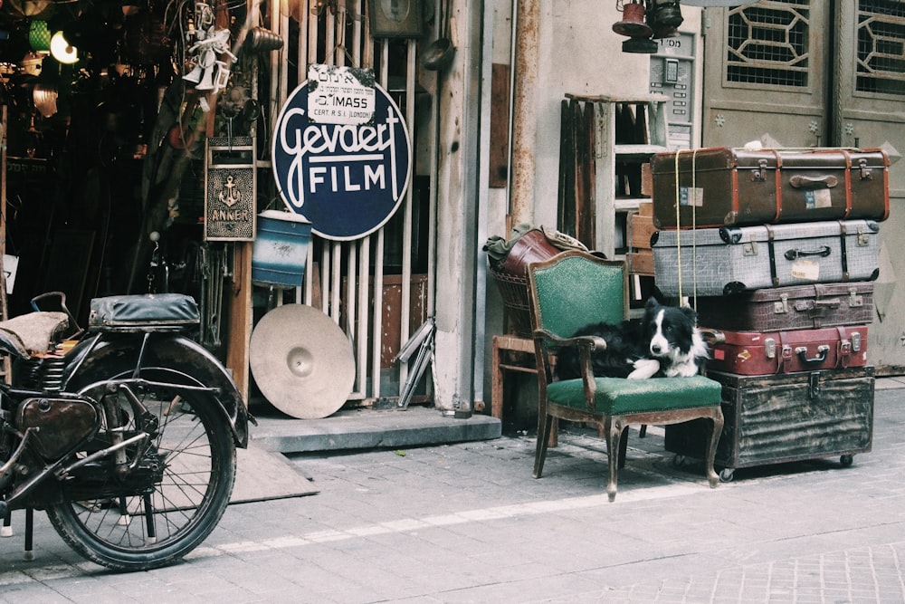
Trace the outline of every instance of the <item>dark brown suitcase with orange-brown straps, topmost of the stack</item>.
<instances>
[{"instance_id":1,"label":"dark brown suitcase with orange-brown straps, topmost of the stack","mask_svg":"<svg viewBox=\"0 0 905 604\"><path fill-rule=\"evenodd\" d=\"M679 183L676 190L676 159ZM890 213L882 149L695 149L652 158L657 228L818 222ZM678 209L678 216L677 216Z\"/></svg>"}]
</instances>

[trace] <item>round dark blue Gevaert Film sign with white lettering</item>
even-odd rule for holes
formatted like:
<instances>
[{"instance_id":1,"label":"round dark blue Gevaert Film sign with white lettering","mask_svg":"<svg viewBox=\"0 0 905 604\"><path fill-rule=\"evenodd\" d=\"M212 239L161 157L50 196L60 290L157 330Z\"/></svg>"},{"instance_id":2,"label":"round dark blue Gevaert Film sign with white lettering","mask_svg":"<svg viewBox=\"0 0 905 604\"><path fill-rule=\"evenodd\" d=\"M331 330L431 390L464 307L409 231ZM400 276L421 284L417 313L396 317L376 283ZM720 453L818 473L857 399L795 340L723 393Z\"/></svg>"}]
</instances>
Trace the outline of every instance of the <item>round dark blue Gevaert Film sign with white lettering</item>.
<instances>
[{"instance_id":1,"label":"round dark blue Gevaert Film sign with white lettering","mask_svg":"<svg viewBox=\"0 0 905 604\"><path fill-rule=\"evenodd\" d=\"M280 111L273 176L283 202L310 221L312 232L357 239L385 225L399 207L412 145L399 109L379 85L369 99L355 81L319 83L303 81Z\"/></svg>"}]
</instances>

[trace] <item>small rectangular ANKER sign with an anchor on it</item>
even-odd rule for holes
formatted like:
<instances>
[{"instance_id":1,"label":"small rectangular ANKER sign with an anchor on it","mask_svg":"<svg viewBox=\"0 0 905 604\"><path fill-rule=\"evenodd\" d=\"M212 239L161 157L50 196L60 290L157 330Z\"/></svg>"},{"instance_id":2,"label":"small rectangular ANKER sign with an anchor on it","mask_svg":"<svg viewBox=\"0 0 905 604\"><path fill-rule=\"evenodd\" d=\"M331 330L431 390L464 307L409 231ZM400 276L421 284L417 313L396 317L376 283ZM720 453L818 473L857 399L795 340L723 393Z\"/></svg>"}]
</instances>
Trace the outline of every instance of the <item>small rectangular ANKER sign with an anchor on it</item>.
<instances>
[{"instance_id":1,"label":"small rectangular ANKER sign with an anchor on it","mask_svg":"<svg viewBox=\"0 0 905 604\"><path fill-rule=\"evenodd\" d=\"M207 139L205 240L252 241L255 207L252 137Z\"/></svg>"}]
</instances>

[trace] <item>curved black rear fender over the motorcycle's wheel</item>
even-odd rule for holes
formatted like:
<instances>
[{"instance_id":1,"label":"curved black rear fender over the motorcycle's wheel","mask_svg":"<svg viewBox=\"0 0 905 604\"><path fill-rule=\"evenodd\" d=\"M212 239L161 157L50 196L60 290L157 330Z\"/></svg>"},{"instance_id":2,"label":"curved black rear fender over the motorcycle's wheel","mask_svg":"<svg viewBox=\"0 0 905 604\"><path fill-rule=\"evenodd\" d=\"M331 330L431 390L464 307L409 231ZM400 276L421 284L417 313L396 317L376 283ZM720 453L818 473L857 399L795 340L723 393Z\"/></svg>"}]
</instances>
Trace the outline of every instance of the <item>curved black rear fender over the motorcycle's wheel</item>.
<instances>
[{"instance_id":1,"label":"curved black rear fender over the motorcycle's wheel","mask_svg":"<svg viewBox=\"0 0 905 604\"><path fill-rule=\"evenodd\" d=\"M141 334L99 334L82 340L71 350L64 389L76 392L91 383L110 379L113 372L135 368L141 337ZM219 396L213 398L233 429L236 446L248 446L248 410L233 377L210 351L185 336L158 332L150 334L143 354L142 367L172 369L205 387L219 388Z\"/></svg>"}]
</instances>

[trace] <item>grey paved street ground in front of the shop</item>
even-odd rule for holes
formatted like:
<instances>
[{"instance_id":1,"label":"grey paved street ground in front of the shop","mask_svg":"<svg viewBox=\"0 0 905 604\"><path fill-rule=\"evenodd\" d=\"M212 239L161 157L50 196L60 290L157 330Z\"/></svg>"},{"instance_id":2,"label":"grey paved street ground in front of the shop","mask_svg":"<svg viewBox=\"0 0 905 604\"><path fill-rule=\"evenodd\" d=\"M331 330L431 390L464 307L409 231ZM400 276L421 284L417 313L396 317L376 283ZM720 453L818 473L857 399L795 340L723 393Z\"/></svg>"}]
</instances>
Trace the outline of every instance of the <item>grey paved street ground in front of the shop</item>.
<instances>
[{"instance_id":1,"label":"grey paved street ground in front of the shop","mask_svg":"<svg viewBox=\"0 0 905 604\"><path fill-rule=\"evenodd\" d=\"M583 430L540 480L531 436L296 455L319 494L231 505L169 569L108 573L38 513L35 561L0 540L0 602L905 602L903 403L878 390L851 468L742 468L714 490L662 430L633 432L615 503Z\"/></svg>"}]
</instances>

